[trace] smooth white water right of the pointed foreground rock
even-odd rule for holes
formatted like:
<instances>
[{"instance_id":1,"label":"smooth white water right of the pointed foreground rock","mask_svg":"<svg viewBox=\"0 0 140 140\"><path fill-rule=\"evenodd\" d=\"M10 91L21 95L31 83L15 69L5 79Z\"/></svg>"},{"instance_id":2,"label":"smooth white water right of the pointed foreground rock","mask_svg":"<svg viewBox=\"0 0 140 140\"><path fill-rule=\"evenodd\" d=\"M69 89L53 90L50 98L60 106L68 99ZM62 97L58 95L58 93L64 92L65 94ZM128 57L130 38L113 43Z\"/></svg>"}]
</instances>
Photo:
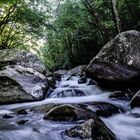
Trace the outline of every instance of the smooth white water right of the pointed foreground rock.
<instances>
[{"instance_id":1,"label":"smooth white water right of the pointed foreground rock","mask_svg":"<svg viewBox=\"0 0 140 140\"><path fill-rule=\"evenodd\" d=\"M116 134L118 140L140 139L140 109L133 109L103 120Z\"/></svg>"}]
</instances>

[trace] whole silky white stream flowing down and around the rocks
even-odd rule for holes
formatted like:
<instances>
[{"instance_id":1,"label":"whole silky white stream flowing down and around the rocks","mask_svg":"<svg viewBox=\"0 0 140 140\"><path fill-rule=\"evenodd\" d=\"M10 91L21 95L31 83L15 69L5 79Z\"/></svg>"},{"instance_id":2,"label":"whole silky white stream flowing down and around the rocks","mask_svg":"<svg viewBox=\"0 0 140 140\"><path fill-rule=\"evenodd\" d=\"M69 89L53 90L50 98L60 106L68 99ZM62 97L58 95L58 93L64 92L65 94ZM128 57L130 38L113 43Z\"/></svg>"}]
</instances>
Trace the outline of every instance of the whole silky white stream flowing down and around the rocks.
<instances>
[{"instance_id":1,"label":"whole silky white stream flowing down and around the rocks","mask_svg":"<svg viewBox=\"0 0 140 140\"><path fill-rule=\"evenodd\" d=\"M43 113L33 113L29 110L27 115L15 115L19 109L28 109L49 103L86 103L107 102L119 105L126 110L125 113L102 118L118 140L140 140L140 109L130 109L129 103L123 100L109 99L111 92L103 91L96 85L89 85L89 79L84 84L78 84L79 77L65 75L57 81L56 89L49 98L31 103L18 103L0 106L0 140L75 140L63 134L64 130L80 122L53 122L43 120ZM76 92L82 91L76 96ZM80 96L82 95L82 96ZM11 114L14 117L4 119L2 115ZM28 120L26 125L20 125L21 120ZM78 140L78 138L76 138Z\"/></svg>"}]
</instances>

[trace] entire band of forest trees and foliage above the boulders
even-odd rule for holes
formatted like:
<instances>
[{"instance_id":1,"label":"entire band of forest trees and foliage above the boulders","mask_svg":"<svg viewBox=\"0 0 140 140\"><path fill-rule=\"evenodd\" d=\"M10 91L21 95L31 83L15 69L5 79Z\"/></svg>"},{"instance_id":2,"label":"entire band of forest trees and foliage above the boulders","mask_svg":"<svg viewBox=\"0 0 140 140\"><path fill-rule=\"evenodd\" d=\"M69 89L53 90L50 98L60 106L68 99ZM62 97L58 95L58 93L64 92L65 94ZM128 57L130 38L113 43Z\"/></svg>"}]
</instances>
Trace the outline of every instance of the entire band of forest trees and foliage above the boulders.
<instances>
[{"instance_id":1,"label":"entire band of forest trees and foliage above the boulders","mask_svg":"<svg viewBox=\"0 0 140 140\"><path fill-rule=\"evenodd\" d=\"M140 30L138 0L0 0L0 49L38 50L51 69L87 64L120 31Z\"/></svg>"}]
</instances>

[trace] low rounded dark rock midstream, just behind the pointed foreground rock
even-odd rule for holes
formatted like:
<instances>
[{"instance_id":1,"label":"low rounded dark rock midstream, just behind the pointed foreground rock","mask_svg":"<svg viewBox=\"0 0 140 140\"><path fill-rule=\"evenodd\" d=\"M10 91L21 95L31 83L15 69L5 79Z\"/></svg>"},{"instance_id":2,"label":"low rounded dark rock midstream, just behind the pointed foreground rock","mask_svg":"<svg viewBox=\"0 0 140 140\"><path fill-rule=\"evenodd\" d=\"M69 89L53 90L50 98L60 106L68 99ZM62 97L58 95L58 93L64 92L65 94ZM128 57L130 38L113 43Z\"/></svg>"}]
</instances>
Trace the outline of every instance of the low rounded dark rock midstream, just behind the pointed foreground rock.
<instances>
[{"instance_id":1,"label":"low rounded dark rock midstream, just behind the pointed foreground rock","mask_svg":"<svg viewBox=\"0 0 140 140\"><path fill-rule=\"evenodd\" d=\"M82 109L79 106L74 105L60 105L52 108L44 116L44 119L53 121L77 121L87 120L92 118L93 113L88 109Z\"/></svg>"}]
</instances>

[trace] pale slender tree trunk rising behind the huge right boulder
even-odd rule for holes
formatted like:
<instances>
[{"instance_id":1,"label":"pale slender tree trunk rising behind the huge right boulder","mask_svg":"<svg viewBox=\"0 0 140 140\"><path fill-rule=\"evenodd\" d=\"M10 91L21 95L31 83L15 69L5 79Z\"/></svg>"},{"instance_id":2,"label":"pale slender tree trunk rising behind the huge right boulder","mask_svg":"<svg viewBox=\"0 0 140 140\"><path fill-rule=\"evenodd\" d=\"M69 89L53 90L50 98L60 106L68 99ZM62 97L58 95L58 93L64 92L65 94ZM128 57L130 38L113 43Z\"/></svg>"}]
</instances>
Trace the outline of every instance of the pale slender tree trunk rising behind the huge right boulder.
<instances>
[{"instance_id":1,"label":"pale slender tree trunk rising behind the huge right boulder","mask_svg":"<svg viewBox=\"0 0 140 140\"><path fill-rule=\"evenodd\" d=\"M122 29L121 29L121 20L119 17L119 11L117 9L117 0L111 0L111 3L112 3L112 12L116 20L117 31L118 33L120 33Z\"/></svg>"}]
</instances>

